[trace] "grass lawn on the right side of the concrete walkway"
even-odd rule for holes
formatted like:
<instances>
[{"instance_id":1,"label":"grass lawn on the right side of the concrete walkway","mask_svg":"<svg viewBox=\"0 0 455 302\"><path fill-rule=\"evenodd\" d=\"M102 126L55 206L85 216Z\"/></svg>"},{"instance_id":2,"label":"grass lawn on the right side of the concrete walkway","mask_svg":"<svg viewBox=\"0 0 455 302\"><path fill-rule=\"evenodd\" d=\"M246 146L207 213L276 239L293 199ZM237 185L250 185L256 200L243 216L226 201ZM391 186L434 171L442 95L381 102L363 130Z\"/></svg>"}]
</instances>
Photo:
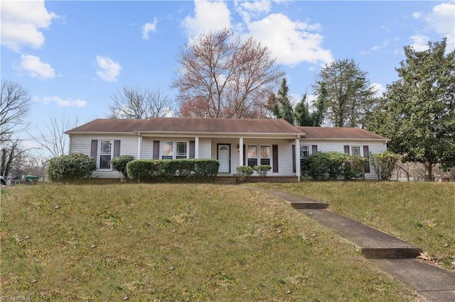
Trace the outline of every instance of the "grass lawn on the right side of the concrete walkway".
<instances>
[{"instance_id":1,"label":"grass lawn on the right side of the concrete walkway","mask_svg":"<svg viewBox=\"0 0 455 302\"><path fill-rule=\"evenodd\" d=\"M302 181L258 184L327 201L331 210L421 247L455 272L455 184Z\"/></svg>"}]
</instances>

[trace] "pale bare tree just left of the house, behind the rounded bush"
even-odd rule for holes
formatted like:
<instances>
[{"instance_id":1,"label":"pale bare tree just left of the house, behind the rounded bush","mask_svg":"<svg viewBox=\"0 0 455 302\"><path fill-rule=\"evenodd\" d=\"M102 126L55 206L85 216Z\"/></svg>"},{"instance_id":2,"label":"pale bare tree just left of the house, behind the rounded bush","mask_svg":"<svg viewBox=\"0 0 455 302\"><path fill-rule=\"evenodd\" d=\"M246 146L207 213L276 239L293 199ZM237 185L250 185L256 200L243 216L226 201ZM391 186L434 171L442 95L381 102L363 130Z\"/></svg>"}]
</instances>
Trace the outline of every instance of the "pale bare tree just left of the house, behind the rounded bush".
<instances>
[{"instance_id":1,"label":"pale bare tree just left of the house, behind the rounded bush","mask_svg":"<svg viewBox=\"0 0 455 302\"><path fill-rule=\"evenodd\" d=\"M65 113L60 117L50 116L45 128L37 128L39 135L33 137L33 141L38 143L44 150L47 150L52 157L58 157L68 153L68 136L66 130L75 128L79 125L77 115L70 119Z\"/></svg>"}]
</instances>

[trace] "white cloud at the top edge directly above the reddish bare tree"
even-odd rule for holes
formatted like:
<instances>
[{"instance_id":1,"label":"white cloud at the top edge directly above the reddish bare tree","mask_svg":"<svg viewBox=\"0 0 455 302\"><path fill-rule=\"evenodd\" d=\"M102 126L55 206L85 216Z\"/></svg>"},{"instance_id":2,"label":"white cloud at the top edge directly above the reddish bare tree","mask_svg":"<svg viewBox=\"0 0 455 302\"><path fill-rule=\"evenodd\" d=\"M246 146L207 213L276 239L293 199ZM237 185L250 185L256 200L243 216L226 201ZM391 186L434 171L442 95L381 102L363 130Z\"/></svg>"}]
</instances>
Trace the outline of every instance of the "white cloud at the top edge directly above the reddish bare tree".
<instances>
[{"instance_id":1,"label":"white cloud at the top edge directly above the reddish bare tree","mask_svg":"<svg viewBox=\"0 0 455 302\"><path fill-rule=\"evenodd\" d=\"M230 27L230 11L223 1L195 1L194 11L194 17L186 16L181 23L189 37Z\"/></svg>"}]
</instances>

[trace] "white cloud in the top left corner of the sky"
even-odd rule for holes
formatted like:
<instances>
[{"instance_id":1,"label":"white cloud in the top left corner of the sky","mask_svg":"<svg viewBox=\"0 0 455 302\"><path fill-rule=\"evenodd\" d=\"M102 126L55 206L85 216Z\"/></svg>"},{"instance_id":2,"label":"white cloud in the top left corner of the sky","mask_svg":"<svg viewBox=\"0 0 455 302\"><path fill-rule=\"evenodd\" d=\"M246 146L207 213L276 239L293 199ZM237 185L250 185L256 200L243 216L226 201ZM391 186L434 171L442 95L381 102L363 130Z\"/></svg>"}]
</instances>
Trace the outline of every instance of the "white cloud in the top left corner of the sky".
<instances>
[{"instance_id":1,"label":"white cloud in the top left corner of the sky","mask_svg":"<svg viewBox=\"0 0 455 302\"><path fill-rule=\"evenodd\" d=\"M38 49L44 44L42 30L59 18L45 9L44 1L1 1L1 45L14 52L22 46Z\"/></svg>"}]
</instances>

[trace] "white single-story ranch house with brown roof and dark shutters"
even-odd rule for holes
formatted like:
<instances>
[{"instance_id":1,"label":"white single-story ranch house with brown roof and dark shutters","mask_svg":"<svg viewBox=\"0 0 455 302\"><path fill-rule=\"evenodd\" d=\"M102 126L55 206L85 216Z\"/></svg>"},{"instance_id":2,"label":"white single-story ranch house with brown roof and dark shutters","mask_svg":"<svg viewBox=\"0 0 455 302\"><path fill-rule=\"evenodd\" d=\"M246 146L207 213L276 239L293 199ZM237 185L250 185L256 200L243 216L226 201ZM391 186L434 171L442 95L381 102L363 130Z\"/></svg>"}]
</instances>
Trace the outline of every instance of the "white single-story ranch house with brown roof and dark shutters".
<instances>
[{"instance_id":1,"label":"white single-story ranch house with brown roof and dark shutters","mask_svg":"<svg viewBox=\"0 0 455 302\"><path fill-rule=\"evenodd\" d=\"M211 158L219 176L232 176L242 165L269 164L271 177L300 180L301 160L315 152L338 151L368 157L387 148L387 138L360 128L296 127L277 119L149 118L96 119L65 132L69 152L95 158L93 177L121 178L109 161L119 155L136 159ZM369 167L365 179L375 179Z\"/></svg>"}]
</instances>

